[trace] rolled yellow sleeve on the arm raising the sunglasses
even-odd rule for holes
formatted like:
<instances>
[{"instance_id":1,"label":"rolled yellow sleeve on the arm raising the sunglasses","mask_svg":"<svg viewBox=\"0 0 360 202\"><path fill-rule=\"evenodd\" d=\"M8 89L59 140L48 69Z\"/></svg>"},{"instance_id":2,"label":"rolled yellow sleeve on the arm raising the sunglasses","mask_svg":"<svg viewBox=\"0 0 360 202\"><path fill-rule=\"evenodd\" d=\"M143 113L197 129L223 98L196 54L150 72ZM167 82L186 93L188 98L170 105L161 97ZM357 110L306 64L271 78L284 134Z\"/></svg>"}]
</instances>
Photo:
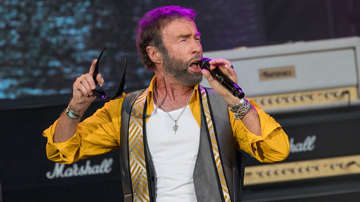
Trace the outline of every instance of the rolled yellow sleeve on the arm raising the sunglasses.
<instances>
[{"instance_id":1,"label":"rolled yellow sleeve on the arm raising the sunglasses","mask_svg":"<svg viewBox=\"0 0 360 202\"><path fill-rule=\"evenodd\" d=\"M74 136L66 142L54 143L58 120L43 132L48 138L46 154L51 161L71 164L119 148L120 119L123 98L105 103L93 116L77 126Z\"/></svg>"}]
</instances>

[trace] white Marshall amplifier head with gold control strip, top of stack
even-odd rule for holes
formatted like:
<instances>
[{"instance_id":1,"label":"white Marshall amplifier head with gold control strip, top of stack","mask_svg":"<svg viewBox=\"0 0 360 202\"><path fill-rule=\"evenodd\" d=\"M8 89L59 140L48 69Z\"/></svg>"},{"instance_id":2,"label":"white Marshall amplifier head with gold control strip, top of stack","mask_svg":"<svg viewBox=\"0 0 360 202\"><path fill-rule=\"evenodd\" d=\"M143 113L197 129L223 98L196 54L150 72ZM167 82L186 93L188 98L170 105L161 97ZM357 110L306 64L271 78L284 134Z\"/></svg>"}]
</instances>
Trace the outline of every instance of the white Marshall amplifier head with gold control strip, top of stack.
<instances>
[{"instance_id":1,"label":"white Marshall amplifier head with gold control strip, top of stack","mask_svg":"<svg viewBox=\"0 0 360 202\"><path fill-rule=\"evenodd\" d=\"M203 55L230 60L245 97L265 111L288 112L359 104L359 48L360 37L348 37Z\"/></svg>"}]
</instances>

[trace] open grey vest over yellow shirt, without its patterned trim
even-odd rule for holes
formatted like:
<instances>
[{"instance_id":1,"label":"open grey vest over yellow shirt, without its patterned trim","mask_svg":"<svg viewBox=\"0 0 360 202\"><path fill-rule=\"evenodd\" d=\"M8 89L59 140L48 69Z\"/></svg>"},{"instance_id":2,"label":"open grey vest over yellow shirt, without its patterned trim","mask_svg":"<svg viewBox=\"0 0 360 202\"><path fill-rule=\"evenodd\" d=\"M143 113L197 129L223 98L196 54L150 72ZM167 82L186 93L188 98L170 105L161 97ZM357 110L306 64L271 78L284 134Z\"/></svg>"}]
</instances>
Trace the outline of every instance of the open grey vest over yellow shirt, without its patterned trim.
<instances>
[{"instance_id":1,"label":"open grey vest over yellow shirt, without its patterned trim","mask_svg":"<svg viewBox=\"0 0 360 202\"><path fill-rule=\"evenodd\" d=\"M120 129L120 162L122 189L125 202L132 202L131 176L129 166L129 144L128 129L132 105L136 98L144 90L135 91L126 95L122 104L121 129ZM206 88L208 105L212 113L212 123L215 129L219 147L221 163L224 169L226 183L228 185L231 202L242 201L242 186L244 181L245 156L240 153L235 145L235 140L229 122L229 110L226 101L213 91ZM211 107L214 106L214 107ZM144 111L146 111L145 103ZM201 108L203 106L201 105ZM155 172L150 157L146 138L145 114L143 123L144 148L147 167L147 178L149 186L150 201L156 201ZM215 160L212 154L211 142L208 134L207 124L201 109L201 134L199 153L195 163L193 174L195 193L199 202L224 201Z\"/></svg>"}]
</instances>

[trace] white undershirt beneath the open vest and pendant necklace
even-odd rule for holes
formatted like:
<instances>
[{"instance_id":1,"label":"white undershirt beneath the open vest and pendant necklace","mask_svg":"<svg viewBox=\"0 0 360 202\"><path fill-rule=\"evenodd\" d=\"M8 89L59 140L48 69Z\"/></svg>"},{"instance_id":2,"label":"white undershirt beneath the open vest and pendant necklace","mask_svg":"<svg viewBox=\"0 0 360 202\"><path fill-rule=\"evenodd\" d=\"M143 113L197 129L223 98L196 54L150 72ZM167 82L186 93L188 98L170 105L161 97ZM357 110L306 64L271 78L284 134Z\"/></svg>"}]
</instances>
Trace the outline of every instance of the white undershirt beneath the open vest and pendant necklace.
<instances>
[{"instance_id":1,"label":"white undershirt beneath the open vest and pendant necklace","mask_svg":"<svg viewBox=\"0 0 360 202\"><path fill-rule=\"evenodd\" d=\"M170 111L176 120L183 108ZM172 129L175 121L154 105L147 124L147 141L156 173L156 200L197 201L193 173L199 150L200 128L186 107L177 121L179 129Z\"/></svg>"}]
</instances>

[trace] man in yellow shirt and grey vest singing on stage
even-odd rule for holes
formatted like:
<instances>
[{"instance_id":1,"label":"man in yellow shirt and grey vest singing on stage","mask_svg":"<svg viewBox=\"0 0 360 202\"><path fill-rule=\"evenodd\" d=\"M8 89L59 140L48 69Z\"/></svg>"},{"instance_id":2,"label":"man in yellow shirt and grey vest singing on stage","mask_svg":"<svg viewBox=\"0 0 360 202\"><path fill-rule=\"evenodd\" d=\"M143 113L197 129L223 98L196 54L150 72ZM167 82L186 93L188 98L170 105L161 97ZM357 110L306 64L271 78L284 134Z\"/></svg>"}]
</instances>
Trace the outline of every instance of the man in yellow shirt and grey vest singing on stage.
<instances>
[{"instance_id":1,"label":"man in yellow shirt and grey vest singing on stage","mask_svg":"<svg viewBox=\"0 0 360 202\"><path fill-rule=\"evenodd\" d=\"M142 63L155 76L147 89L105 103L79 122L94 101L93 72L73 84L68 109L44 131L52 161L71 164L120 148L127 201L241 201L244 156L284 160L288 137L253 100L233 96L201 69L196 13L164 6L145 13L137 26ZM212 59L232 81L230 61ZM212 88L199 85L205 77ZM100 74L96 81L103 84Z\"/></svg>"}]
</instances>

